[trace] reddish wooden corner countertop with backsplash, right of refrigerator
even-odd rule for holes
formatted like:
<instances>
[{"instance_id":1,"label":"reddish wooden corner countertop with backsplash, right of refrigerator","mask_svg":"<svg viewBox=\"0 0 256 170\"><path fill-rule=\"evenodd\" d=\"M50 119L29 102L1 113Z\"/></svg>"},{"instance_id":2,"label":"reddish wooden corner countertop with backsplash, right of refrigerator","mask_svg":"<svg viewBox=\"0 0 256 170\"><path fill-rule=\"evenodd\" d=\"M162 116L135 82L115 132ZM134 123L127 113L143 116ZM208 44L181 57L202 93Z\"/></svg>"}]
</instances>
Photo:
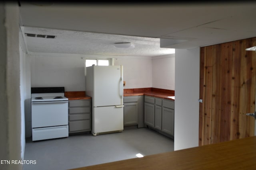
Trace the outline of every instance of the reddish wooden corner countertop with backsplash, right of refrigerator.
<instances>
[{"instance_id":1,"label":"reddish wooden corner countertop with backsplash, right of refrigerator","mask_svg":"<svg viewBox=\"0 0 256 170\"><path fill-rule=\"evenodd\" d=\"M156 98L162 98L167 100L173 100L167 98L168 96L175 96L174 90L165 90L160 88L133 88L133 89L124 89L124 96L152 96Z\"/></svg>"}]
</instances>

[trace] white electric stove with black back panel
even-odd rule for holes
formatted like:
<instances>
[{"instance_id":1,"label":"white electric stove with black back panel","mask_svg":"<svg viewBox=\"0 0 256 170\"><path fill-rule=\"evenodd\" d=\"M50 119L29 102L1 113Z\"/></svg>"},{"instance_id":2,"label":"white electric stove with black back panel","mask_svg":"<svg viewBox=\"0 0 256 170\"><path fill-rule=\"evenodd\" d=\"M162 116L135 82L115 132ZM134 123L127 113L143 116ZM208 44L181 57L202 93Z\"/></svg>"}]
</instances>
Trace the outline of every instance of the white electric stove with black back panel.
<instances>
[{"instance_id":1,"label":"white electric stove with black back panel","mask_svg":"<svg viewBox=\"0 0 256 170\"><path fill-rule=\"evenodd\" d=\"M32 141L68 137L64 87L31 88Z\"/></svg>"}]
</instances>

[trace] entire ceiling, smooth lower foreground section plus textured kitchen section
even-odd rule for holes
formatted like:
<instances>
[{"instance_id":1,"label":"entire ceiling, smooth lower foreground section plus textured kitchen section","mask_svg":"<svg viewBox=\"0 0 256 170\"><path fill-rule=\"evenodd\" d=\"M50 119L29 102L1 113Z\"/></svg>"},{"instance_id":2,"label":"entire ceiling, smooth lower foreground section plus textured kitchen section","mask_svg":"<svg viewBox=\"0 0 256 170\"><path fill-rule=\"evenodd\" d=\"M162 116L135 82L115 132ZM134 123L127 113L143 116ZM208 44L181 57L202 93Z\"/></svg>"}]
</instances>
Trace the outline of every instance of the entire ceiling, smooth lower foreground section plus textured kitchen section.
<instances>
[{"instance_id":1,"label":"entire ceiling, smooth lower foreground section plus textured kitchen section","mask_svg":"<svg viewBox=\"0 0 256 170\"><path fill-rule=\"evenodd\" d=\"M39 4L21 0L20 4L24 31L56 34L52 43L28 38L28 49L34 52L157 56L168 53L159 46L192 49L256 37L256 1ZM130 41L135 48L113 49L116 41Z\"/></svg>"}]
</instances>

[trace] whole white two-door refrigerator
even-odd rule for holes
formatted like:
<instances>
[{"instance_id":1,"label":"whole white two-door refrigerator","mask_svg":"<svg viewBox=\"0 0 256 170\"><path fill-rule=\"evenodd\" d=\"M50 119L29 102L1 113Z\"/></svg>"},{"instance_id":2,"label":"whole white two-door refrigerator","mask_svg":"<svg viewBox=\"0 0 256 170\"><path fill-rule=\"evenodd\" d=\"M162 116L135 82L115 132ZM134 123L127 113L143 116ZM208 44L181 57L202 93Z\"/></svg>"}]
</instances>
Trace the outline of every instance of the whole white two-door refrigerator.
<instances>
[{"instance_id":1,"label":"whole white two-door refrigerator","mask_svg":"<svg viewBox=\"0 0 256 170\"><path fill-rule=\"evenodd\" d=\"M123 66L86 67L86 95L92 97L92 135L124 130Z\"/></svg>"}]
</instances>

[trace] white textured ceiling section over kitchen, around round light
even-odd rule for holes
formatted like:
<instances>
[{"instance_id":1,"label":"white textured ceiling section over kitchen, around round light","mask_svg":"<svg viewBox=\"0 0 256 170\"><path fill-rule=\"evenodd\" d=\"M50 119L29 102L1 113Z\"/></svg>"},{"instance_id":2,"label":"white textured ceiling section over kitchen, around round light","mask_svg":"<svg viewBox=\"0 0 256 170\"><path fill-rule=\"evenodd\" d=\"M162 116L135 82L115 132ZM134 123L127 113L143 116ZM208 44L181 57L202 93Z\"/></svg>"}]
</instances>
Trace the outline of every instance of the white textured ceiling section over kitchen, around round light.
<instances>
[{"instance_id":1,"label":"white textured ceiling section over kitchen, around round light","mask_svg":"<svg viewBox=\"0 0 256 170\"><path fill-rule=\"evenodd\" d=\"M34 53L65 53L80 55L110 55L155 57L175 53L175 49L160 48L159 38L90 33L36 27L23 27L24 33L55 35L54 39L27 37L27 49ZM114 43L131 42L134 48L120 49Z\"/></svg>"}]
</instances>

